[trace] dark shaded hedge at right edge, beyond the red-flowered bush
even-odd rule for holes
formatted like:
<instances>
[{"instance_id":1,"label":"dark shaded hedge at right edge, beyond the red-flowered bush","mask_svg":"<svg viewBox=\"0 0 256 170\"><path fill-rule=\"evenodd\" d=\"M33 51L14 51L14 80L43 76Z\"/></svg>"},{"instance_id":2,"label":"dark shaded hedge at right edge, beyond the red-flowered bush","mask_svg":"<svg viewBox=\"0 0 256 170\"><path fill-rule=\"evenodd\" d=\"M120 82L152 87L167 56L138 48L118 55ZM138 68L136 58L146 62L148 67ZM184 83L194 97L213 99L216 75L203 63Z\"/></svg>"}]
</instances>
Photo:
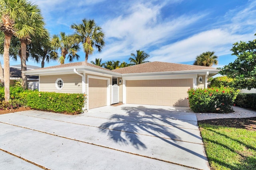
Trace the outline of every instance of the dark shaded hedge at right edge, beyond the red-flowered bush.
<instances>
[{"instance_id":1,"label":"dark shaded hedge at right edge, beyond the red-flowered bush","mask_svg":"<svg viewBox=\"0 0 256 170\"><path fill-rule=\"evenodd\" d=\"M236 106L256 110L256 94L239 93L235 100Z\"/></svg>"}]
</instances>

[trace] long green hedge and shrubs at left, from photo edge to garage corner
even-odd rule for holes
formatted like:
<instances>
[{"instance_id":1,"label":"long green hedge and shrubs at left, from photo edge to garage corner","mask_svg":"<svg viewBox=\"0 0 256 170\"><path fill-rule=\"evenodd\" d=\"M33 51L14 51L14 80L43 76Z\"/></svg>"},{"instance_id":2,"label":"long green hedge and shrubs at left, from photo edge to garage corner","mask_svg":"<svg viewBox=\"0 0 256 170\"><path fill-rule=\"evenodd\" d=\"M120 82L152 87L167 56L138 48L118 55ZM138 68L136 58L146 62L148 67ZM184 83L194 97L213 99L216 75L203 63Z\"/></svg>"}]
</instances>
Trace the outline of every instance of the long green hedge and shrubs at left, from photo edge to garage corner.
<instances>
[{"instance_id":1,"label":"long green hedge and shrubs at left, from photo edge to garage corner","mask_svg":"<svg viewBox=\"0 0 256 170\"><path fill-rule=\"evenodd\" d=\"M32 109L81 113L86 101L85 94L66 94L24 90L20 86L10 87L10 101L4 102L4 87L0 87L0 110L28 106Z\"/></svg>"}]
</instances>

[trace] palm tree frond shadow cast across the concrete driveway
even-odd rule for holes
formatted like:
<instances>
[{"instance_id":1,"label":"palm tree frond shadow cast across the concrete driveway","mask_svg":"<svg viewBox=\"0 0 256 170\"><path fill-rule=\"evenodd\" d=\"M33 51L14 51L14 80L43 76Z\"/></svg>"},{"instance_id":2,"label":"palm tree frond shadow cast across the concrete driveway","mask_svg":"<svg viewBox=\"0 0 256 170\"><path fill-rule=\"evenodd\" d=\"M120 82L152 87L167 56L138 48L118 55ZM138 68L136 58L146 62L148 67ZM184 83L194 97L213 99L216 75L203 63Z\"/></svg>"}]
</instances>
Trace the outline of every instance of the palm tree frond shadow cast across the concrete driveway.
<instances>
[{"instance_id":1,"label":"palm tree frond shadow cast across the concrete driveway","mask_svg":"<svg viewBox=\"0 0 256 170\"><path fill-rule=\"evenodd\" d=\"M100 125L102 127L100 131L107 133L116 143L132 144L138 150L147 149L147 143L151 141L143 141L141 135L158 137L158 139L170 145L205 159L204 155L177 144L178 141L182 141L182 138L177 133L175 134L174 130L170 127L175 127L190 135L190 137L202 139L200 135L195 135L189 132L186 127L181 127L180 124L171 121L175 119L175 114L182 115L182 113L175 110L155 109L144 106L122 107L122 110L125 110L126 113L114 114L110 121ZM188 122L186 121L186 123ZM194 121L194 125L197 125L197 121Z\"/></svg>"}]
</instances>

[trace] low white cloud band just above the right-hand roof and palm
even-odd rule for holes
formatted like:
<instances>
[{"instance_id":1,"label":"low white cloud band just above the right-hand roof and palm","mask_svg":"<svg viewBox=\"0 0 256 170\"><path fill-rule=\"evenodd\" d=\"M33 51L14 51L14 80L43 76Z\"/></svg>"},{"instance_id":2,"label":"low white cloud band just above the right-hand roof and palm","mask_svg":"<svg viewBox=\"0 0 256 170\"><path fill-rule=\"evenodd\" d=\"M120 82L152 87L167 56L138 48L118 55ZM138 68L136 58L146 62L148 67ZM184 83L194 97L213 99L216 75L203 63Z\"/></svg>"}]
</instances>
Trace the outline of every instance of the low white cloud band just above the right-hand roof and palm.
<instances>
[{"instance_id":1,"label":"low white cloud band just above the right-hand roof and palm","mask_svg":"<svg viewBox=\"0 0 256 170\"><path fill-rule=\"evenodd\" d=\"M150 55L154 57L150 58L150 61L171 63L194 61L196 55L200 55L205 51L215 51L218 56L226 55L231 53L232 43L242 39L248 40L252 38L252 34L232 35L228 30L222 29L204 31L152 51Z\"/></svg>"}]
</instances>

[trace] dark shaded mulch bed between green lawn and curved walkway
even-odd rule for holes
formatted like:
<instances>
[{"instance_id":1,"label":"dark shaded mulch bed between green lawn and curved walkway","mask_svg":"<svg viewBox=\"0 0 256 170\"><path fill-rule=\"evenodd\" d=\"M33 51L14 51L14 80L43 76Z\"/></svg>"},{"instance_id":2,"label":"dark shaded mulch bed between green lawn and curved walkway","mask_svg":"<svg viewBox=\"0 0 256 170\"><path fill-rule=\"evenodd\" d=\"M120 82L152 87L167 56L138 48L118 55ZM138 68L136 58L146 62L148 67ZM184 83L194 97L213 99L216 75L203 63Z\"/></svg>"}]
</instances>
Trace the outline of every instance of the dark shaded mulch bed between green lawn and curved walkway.
<instances>
[{"instance_id":1,"label":"dark shaded mulch bed between green lawn and curved walkway","mask_svg":"<svg viewBox=\"0 0 256 170\"><path fill-rule=\"evenodd\" d=\"M209 120L198 121L198 123L207 123L210 125L219 125L219 126L225 126L225 127L247 129L249 131L256 131L256 117L209 119Z\"/></svg>"}]
</instances>

